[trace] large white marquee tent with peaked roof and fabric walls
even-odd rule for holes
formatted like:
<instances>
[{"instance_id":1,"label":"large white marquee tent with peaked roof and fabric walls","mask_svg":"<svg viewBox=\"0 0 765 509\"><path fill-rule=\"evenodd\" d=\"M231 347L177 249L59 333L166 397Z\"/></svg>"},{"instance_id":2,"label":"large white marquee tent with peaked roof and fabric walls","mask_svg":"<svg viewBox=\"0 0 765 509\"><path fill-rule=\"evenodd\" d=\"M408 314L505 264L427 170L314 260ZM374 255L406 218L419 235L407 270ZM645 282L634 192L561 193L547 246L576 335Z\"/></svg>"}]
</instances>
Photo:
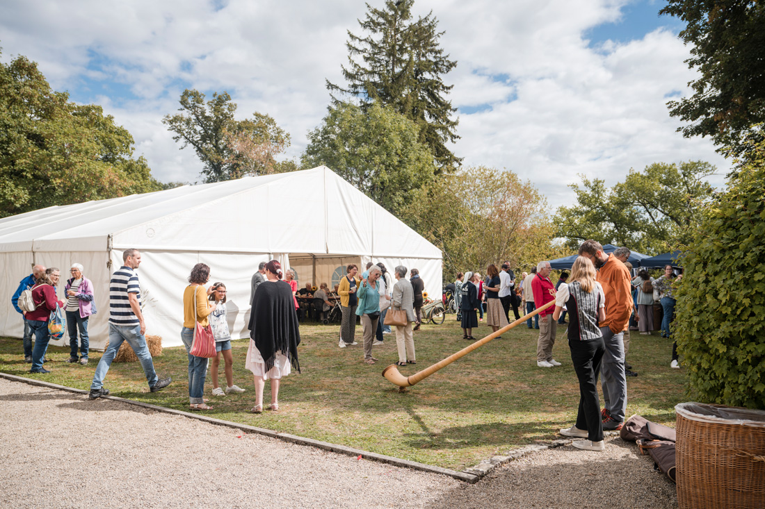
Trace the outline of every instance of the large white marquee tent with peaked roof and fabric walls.
<instances>
[{"instance_id":1,"label":"large white marquee tent with peaked roof and fabric walls","mask_svg":"<svg viewBox=\"0 0 765 509\"><path fill-rule=\"evenodd\" d=\"M22 336L11 296L33 264L60 268L63 297L69 267L77 262L96 290L90 345L103 349L109 277L128 248L142 253L138 277L147 334L162 336L164 346L181 345L182 295L199 262L210 265L210 283L223 281L229 290L234 339L249 337L250 279L270 258L294 268L300 286L331 287L350 262L416 267L428 293L441 295L441 251L332 170L317 167L0 219L0 336Z\"/></svg>"}]
</instances>

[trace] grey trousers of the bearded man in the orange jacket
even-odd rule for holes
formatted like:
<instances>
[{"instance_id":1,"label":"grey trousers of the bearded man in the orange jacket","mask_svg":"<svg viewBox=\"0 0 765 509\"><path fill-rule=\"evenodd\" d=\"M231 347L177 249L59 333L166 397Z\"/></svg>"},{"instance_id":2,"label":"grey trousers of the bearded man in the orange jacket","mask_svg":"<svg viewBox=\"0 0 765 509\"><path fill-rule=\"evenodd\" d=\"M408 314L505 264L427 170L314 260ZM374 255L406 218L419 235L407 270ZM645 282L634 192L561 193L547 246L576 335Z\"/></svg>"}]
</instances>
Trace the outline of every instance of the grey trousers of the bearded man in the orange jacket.
<instances>
[{"instance_id":1,"label":"grey trousers of the bearded man in the orange jacket","mask_svg":"<svg viewBox=\"0 0 765 509\"><path fill-rule=\"evenodd\" d=\"M601 364L601 387L604 407L617 422L623 422L627 412L627 374L624 372L624 333L614 334L601 327L606 350Z\"/></svg>"}]
</instances>

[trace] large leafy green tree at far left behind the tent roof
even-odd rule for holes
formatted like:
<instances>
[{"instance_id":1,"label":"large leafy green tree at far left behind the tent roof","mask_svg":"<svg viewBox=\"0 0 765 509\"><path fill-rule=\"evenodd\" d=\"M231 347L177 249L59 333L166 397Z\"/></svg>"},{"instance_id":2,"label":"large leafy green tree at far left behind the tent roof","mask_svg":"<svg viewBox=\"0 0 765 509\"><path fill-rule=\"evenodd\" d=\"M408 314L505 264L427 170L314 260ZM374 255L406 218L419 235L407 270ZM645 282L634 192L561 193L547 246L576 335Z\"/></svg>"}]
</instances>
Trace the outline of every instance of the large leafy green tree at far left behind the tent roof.
<instances>
[{"instance_id":1,"label":"large leafy green tree at far left behind the tent roof","mask_svg":"<svg viewBox=\"0 0 765 509\"><path fill-rule=\"evenodd\" d=\"M0 63L0 217L160 189L133 143L100 106L51 89L36 63Z\"/></svg>"}]
</instances>

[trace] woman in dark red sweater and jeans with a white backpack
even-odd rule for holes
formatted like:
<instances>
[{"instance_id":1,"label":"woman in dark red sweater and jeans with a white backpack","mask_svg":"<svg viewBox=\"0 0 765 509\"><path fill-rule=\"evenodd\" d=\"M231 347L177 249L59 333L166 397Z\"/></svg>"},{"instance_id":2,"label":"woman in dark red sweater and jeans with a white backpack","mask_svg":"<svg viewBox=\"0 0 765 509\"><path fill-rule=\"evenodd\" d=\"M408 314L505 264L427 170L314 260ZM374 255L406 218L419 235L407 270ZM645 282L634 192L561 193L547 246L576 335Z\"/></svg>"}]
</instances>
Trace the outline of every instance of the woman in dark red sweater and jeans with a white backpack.
<instances>
[{"instance_id":1,"label":"woman in dark red sweater and jeans with a white backpack","mask_svg":"<svg viewBox=\"0 0 765 509\"><path fill-rule=\"evenodd\" d=\"M50 341L50 334L47 332L50 312L56 310L56 304L62 308L65 305L63 300L58 300L56 297L56 289L54 288L58 284L60 275L61 273L56 267L50 267L44 274L41 274L32 287L32 300L37 307L34 311L24 313L24 318L28 320L29 327L34 333L34 350L32 351L30 373L50 373L43 368L43 358Z\"/></svg>"}]
</instances>

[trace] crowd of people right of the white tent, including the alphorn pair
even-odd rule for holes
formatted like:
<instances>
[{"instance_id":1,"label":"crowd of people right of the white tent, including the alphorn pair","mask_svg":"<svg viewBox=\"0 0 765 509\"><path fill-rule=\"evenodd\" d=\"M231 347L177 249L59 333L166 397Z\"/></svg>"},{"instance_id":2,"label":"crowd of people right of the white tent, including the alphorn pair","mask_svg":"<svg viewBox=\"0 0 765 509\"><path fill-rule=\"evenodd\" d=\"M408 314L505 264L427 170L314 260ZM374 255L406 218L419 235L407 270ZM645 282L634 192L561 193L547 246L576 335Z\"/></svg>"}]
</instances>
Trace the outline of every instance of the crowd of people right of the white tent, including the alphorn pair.
<instances>
[{"instance_id":1,"label":"crowd of people right of the white tent, including the alphorn pair","mask_svg":"<svg viewBox=\"0 0 765 509\"><path fill-rule=\"evenodd\" d=\"M671 337L670 324L674 316L675 299L672 290L682 278L667 265L665 274L654 279L641 270L635 277L628 248L617 248L607 254L603 246L588 240L579 248L571 272L562 271L553 284L549 261L540 261L527 274L516 277L509 262L498 270L487 267L487 277L480 280L472 272L458 273L448 290L455 292L457 319L461 320L463 339L474 340L473 329L478 325L477 312L486 306L487 325L497 332L509 324L509 310L516 321L518 309L526 314L555 301L526 319L529 329L538 329L537 366L555 368L562 365L553 358L558 325L568 325L566 337L571 361L578 377L581 400L576 423L560 430L575 440L580 449L604 450L603 430L620 430L627 410L627 377L636 376L627 364L630 345L630 320L635 320L641 334L654 329L653 317L657 301L663 310L662 336ZM481 313L483 315L483 313ZM565 321L568 315L568 322ZM501 338L501 336L496 336ZM676 343L672 345L672 368L679 368ZM601 378L604 407L597 395L597 379Z\"/></svg>"}]
</instances>

